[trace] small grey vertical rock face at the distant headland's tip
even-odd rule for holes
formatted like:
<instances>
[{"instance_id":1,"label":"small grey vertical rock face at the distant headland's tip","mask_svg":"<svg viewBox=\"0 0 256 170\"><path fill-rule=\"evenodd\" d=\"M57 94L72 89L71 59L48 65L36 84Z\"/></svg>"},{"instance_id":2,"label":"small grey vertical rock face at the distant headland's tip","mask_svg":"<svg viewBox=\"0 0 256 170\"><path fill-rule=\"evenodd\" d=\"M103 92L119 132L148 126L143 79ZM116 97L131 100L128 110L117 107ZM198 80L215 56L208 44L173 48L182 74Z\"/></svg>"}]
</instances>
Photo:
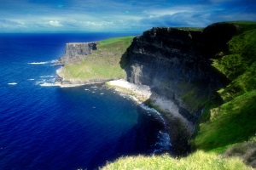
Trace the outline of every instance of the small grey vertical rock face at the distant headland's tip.
<instances>
[{"instance_id":1,"label":"small grey vertical rock face at the distant headland's tip","mask_svg":"<svg viewBox=\"0 0 256 170\"><path fill-rule=\"evenodd\" d=\"M58 59L55 65L65 65L67 61L75 57L91 54L96 49L96 42L71 42L66 44L64 56Z\"/></svg>"}]
</instances>

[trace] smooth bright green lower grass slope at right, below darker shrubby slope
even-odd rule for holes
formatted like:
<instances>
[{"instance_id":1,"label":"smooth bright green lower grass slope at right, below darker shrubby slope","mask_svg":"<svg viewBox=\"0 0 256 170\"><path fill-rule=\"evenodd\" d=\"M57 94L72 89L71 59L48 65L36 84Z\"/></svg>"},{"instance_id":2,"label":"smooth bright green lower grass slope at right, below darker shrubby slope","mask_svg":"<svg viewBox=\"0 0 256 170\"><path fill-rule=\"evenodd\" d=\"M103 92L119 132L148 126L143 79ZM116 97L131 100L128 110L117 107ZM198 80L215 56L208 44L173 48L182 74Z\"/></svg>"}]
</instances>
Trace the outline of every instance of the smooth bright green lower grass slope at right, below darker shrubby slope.
<instances>
[{"instance_id":1,"label":"smooth bright green lower grass slope at right, below darker shrubby slope","mask_svg":"<svg viewBox=\"0 0 256 170\"><path fill-rule=\"evenodd\" d=\"M222 153L232 144L255 135L256 90L232 99L211 113L210 121L200 125L192 143L197 149Z\"/></svg>"}]
</instances>

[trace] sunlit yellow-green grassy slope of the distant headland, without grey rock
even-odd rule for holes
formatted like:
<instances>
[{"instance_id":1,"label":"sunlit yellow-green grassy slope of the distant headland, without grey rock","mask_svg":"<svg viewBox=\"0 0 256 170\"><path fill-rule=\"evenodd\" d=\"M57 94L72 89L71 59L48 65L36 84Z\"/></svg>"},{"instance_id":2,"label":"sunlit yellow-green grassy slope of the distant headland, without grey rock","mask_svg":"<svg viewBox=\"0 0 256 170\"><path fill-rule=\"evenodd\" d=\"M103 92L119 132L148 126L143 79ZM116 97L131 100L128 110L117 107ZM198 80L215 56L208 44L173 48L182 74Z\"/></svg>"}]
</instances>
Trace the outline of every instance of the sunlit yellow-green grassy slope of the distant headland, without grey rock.
<instances>
[{"instance_id":1,"label":"sunlit yellow-green grassy slope of the distant headland, without grey rock","mask_svg":"<svg viewBox=\"0 0 256 170\"><path fill-rule=\"evenodd\" d=\"M131 45L133 37L115 37L97 42L97 50L79 61L70 61L61 75L66 80L84 81L94 79L125 78L120 60Z\"/></svg>"}]
</instances>

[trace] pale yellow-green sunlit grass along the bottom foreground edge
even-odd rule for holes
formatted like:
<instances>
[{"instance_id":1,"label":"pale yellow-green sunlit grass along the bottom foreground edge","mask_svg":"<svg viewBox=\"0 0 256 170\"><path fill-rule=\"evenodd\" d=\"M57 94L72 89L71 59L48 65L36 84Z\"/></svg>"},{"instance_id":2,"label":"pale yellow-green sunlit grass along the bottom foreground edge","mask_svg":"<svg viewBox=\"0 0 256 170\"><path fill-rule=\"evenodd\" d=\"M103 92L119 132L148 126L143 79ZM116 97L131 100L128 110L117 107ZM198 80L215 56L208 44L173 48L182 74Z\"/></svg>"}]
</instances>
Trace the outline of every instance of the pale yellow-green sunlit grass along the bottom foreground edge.
<instances>
[{"instance_id":1,"label":"pale yellow-green sunlit grass along the bottom foreground edge","mask_svg":"<svg viewBox=\"0 0 256 170\"><path fill-rule=\"evenodd\" d=\"M121 157L113 163L108 163L102 170L128 170L128 169L158 169L158 170L246 170L247 167L238 158L223 158L216 154L197 151L194 154L181 159L172 158L169 155L162 156L129 156Z\"/></svg>"}]
</instances>

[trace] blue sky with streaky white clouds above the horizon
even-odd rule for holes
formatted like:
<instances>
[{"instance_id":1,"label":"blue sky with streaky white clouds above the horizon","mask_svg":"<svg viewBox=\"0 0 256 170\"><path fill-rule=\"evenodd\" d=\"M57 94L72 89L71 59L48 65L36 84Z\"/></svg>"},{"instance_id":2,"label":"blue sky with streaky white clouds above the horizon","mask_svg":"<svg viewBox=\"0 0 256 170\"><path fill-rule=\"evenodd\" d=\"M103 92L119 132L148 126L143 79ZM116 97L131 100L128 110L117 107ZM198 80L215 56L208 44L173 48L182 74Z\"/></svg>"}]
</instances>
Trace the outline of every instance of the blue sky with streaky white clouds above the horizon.
<instances>
[{"instance_id":1,"label":"blue sky with streaky white clouds above the horizon","mask_svg":"<svg viewBox=\"0 0 256 170\"><path fill-rule=\"evenodd\" d=\"M0 32L145 31L256 21L256 0L0 0Z\"/></svg>"}]
</instances>

